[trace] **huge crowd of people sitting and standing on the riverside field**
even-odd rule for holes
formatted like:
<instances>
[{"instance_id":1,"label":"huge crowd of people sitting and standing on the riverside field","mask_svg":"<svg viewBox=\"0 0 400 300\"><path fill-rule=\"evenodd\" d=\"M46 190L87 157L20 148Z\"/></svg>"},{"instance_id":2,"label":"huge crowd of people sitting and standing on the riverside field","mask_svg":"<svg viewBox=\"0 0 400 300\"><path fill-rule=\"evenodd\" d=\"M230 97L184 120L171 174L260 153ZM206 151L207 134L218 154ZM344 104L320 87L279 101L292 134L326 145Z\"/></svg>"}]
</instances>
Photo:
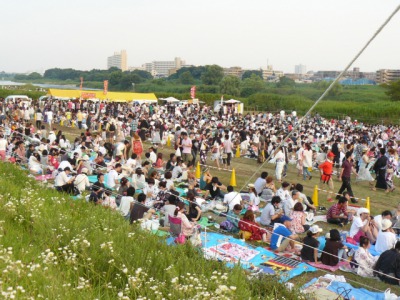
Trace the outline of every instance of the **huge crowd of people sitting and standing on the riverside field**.
<instances>
[{"instance_id":1,"label":"huge crowd of people sitting and standing on the riverside field","mask_svg":"<svg viewBox=\"0 0 400 300\"><path fill-rule=\"evenodd\" d=\"M386 256L400 257L392 228L399 210L372 218L364 208L348 207L349 201L358 201L351 187L352 173L356 180L369 182L372 190L395 190L398 126L328 120L319 114L299 123L295 112L241 115L193 103L159 106L57 99L40 103L0 99L0 103L0 159L54 179L60 192L87 194L88 201L119 211L131 223L161 213L160 223L168 227L170 217L178 218L186 238L196 232L203 216L200 203L220 200L226 215L221 229L246 240L268 242L276 251L335 265L348 255L339 230L330 230L321 245L321 228L307 225L317 207L304 193L302 181L312 179L313 169L319 170L320 182L329 190L328 202L335 201L334 179L341 182L337 203L326 217L333 226L351 222L346 241L360 245L352 255L358 274L372 276L375 268L400 280L400 265L395 270L384 265ZM67 138L71 134L64 134L63 126L76 127L76 138ZM174 150L165 157L168 143ZM249 184L246 197L212 176L209 168L203 168L197 180L197 162L229 169L237 150L243 157L274 163L273 176L263 171ZM297 170L296 184L285 181L290 164ZM96 182L91 183L89 176L96 176ZM181 201L179 187L186 189L189 206ZM300 238L301 251L295 247ZM382 253L379 259L368 252L370 245Z\"/></svg>"}]
</instances>

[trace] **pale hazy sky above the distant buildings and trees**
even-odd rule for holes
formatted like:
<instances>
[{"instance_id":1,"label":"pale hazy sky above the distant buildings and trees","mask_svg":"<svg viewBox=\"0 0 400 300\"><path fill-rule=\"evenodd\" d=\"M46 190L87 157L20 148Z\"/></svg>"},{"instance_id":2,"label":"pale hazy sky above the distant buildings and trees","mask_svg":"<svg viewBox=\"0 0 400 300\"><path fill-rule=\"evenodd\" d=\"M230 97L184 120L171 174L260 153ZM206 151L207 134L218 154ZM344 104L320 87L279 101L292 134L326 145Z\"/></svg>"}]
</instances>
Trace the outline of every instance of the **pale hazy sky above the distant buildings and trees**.
<instances>
[{"instance_id":1,"label":"pale hazy sky above the distant buildings and trees","mask_svg":"<svg viewBox=\"0 0 400 300\"><path fill-rule=\"evenodd\" d=\"M293 72L342 69L398 0L1 1L0 71L106 68L179 56L188 64ZM400 13L355 64L400 69Z\"/></svg>"}]
</instances>

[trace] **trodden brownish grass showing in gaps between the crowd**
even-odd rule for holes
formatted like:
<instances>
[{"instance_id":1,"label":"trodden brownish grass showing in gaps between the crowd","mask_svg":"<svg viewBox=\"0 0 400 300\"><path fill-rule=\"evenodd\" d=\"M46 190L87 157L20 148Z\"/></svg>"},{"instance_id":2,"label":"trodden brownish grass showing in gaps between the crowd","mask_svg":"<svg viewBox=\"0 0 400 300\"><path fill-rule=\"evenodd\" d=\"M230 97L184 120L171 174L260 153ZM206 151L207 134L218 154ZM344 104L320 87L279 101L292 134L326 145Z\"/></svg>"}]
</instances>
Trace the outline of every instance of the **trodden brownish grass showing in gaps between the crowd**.
<instances>
[{"instance_id":1,"label":"trodden brownish grass showing in gaps between the crowd","mask_svg":"<svg viewBox=\"0 0 400 300\"><path fill-rule=\"evenodd\" d=\"M72 130L70 128L65 128L67 132L69 133L74 133L76 134L76 130ZM148 144L150 147L150 144ZM160 149L161 152L163 152L164 157L168 157L170 153L174 153L175 151L173 148L164 148L163 150ZM209 160L208 164L212 166L212 161ZM257 163L256 160L253 159L247 159L247 158L234 158L232 162L232 166L235 169L236 173L236 182L237 182L237 187L235 190L247 190L247 183L254 183L254 181L257 179L257 177L260 175L262 171L267 171L269 174L274 175L274 165L266 163L264 165L260 165ZM228 185L231 179L231 172L228 171L223 171L223 170L217 170L217 169L211 169L211 174L213 176L218 176L220 181ZM319 185L319 174L317 171L312 172L313 178L312 180L307 180L303 181L302 177L297 177L297 170L295 169L294 165L289 165L288 168L288 175L285 178L286 181L290 183L301 183L304 186L304 193L308 196L312 196L312 193L314 191L314 187L316 185ZM355 178L353 177L353 191L356 197L366 199L367 197L370 197L370 205L371 205L371 213L372 215L378 215L380 214L383 210L393 210L397 207L397 204L399 203L399 191L398 189L395 190L392 193L385 193L384 191L371 191L369 184L367 182L356 182ZM399 184L399 180L396 178L395 179L395 185ZM335 185L335 192L337 192L340 188L341 182L339 182L337 179L334 181ZM278 187L278 186L277 186ZM322 186L321 186L322 187ZM323 187L324 188L324 187ZM328 203L326 201L326 194L323 192L319 192L319 205L320 206L325 206L329 208L332 203ZM360 200L358 205L360 206L365 206L365 201ZM215 217L215 215L214 215ZM218 219L217 220L222 220ZM324 233L327 232L329 229L334 228L335 225L329 225L327 223L318 223L319 226L321 226L324 229ZM345 226L343 230L350 230L350 224ZM301 276L295 277L294 279L291 280L291 282L294 282L297 284L297 286L301 286L302 284L308 282L314 277L317 276L323 276L326 274L324 271L318 271L317 273L309 273L309 274L303 274ZM362 278L360 276L354 275L354 274L349 274L349 273L344 273L342 271L337 271L335 274L337 275L345 275L346 278L354 281L350 282L354 286L359 287L365 287L362 284L366 284L367 287L371 290L373 289L378 289L380 291L386 290L388 287L392 289L394 293L400 294L400 288L399 287L394 287L394 286L389 286L385 283L382 283L378 280L375 279L367 279L367 278Z\"/></svg>"}]
</instances>

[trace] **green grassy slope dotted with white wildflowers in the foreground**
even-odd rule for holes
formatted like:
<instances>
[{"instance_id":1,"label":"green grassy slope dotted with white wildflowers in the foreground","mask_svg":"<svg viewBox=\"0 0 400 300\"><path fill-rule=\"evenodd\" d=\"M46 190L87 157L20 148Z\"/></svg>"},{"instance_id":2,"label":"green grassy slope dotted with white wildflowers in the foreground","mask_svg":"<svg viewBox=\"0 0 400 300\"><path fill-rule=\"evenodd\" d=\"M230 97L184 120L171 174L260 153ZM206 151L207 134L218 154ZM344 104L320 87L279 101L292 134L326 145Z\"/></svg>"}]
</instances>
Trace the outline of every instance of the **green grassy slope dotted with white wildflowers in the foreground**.
<instances>
[{"instance_id":1,"label":"green grassy slope dotted with white wildflowers in the foreground","mask_svg":"<svg viewBox=\"0 0 400 300\"><path fill-rule=\"evenodd\" d=\"M110 210L0 164L0 292L17 299L297 299L272 278L167 246Z\"/></svg>"}]
</instances>

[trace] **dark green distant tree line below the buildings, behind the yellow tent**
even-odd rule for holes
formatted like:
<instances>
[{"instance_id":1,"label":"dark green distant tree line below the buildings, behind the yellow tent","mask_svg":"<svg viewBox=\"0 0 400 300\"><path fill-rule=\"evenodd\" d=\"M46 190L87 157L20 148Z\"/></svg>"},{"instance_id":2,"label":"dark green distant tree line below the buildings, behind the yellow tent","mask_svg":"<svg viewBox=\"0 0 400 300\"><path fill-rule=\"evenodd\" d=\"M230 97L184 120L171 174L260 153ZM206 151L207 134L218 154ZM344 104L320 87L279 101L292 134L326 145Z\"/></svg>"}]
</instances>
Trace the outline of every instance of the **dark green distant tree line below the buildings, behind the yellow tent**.
<instances>
[{"instance_id":1,"label":"dark green distant tree line below the buildings, behind the yellow tent","mask_svg":"<svg viewBox=\"0 0 400 300\"><path fill-rule=\"evenodd\" d=\"M46 70L43 76L34 72L29 75L16 75L14 79L67 82L79 86L81 77L84 80L84 86L92 88L102 88L103 81L108 80L109 89L114 91L186 93L190 90L190 85L196 85L200 93L249 97L258 93L270 93L272 88L277 89L279 94L293 94L296 90L294 80L285 76L279 78L276 83L268 83L263 80L260 70L247 70L239 78L225 75L223 68L218 65L183 67L175 74L159 79L154 79L149 72L143 70L123 72L118 68L90 71L53 68ZM320 90L328 85L327 82L320 82L313 87ZM335 96L340 93L341 86L337 85L329 95Z\"/></svg>"}]
</instances>

